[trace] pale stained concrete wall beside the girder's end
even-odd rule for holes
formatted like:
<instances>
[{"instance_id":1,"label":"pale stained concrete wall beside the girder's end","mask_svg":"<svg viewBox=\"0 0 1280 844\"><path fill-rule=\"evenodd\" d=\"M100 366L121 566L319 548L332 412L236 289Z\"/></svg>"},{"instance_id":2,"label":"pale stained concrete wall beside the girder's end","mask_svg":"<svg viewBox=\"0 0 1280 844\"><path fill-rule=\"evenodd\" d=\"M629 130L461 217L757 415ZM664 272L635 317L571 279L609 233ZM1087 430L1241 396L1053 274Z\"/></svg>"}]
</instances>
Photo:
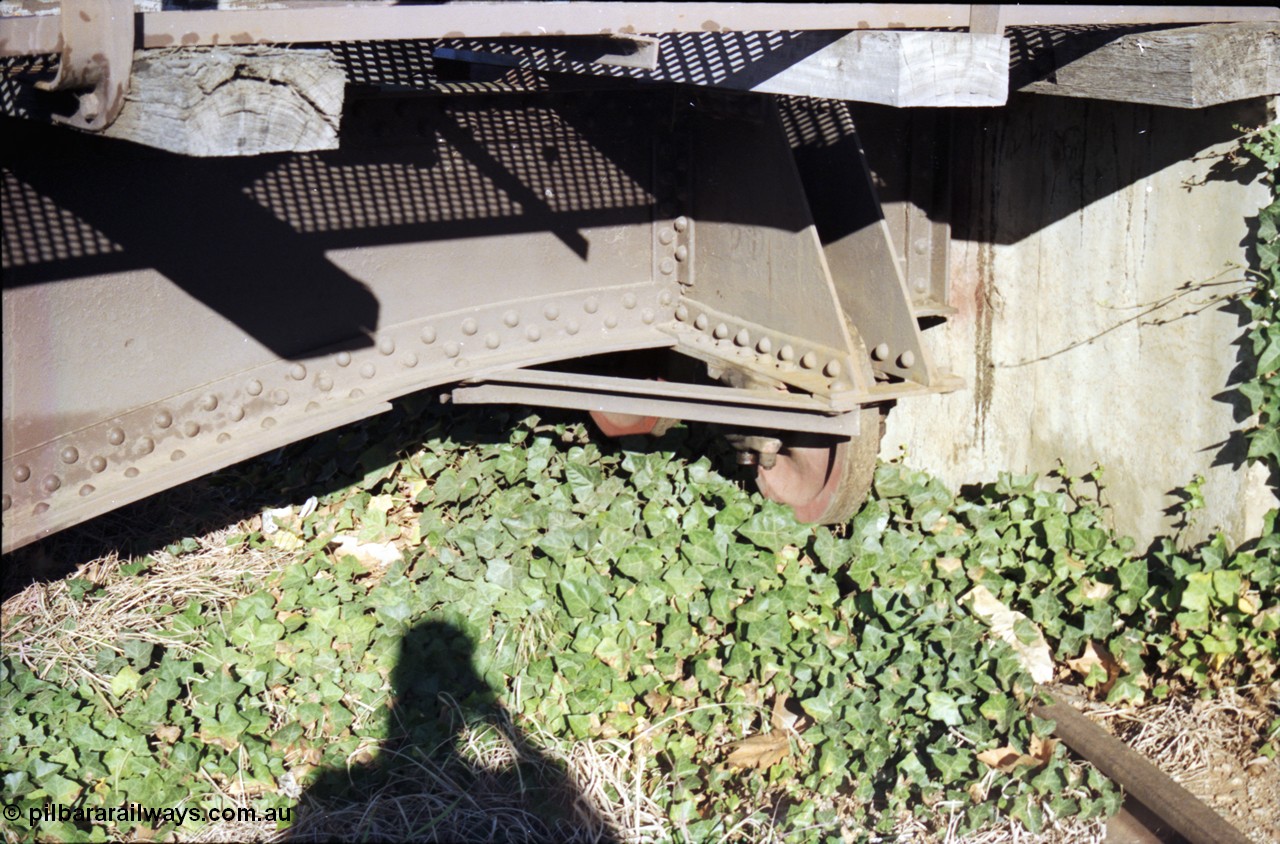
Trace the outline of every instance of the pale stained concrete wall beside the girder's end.
<instances>
[{"instance_id":1,"label":"pale stained concrete wall beside the girder's end","mask_svg":"<svg viewBox=\"0 0 1280 844\"><path fill-rule=\"evenodd\" d=\"M1274 119L1274 109L1270 110ZM902 402L882 456L952 488L996 471L1042 475L1062 459L1105 467L1115 528L1166 533L1171 492L1203 474L1189 539L1258 535L1276 506L1243 466L1239 402L1247 218L1266 205L1256 169L1224 155L1262 100L1181 110L1015 95L960 115L951 304L925 332L966 388Z\"/></svg>"}]
</instances>

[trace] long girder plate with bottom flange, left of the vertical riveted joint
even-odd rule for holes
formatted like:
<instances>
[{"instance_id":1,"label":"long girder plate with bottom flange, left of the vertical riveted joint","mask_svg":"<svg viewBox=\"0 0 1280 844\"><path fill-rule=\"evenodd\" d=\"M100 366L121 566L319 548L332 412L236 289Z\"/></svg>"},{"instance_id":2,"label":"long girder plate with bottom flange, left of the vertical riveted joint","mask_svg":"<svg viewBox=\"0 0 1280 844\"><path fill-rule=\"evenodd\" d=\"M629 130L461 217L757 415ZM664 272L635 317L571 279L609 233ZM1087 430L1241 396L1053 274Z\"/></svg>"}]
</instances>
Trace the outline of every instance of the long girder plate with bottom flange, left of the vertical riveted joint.
<instances>
[{"instance_id":1,"label":"long girder plate with bottom flange, left of the vertical riveted joint","mask_svg":"<svg viewBox=\"0 0 1280 844\"><path fill-rule=\"evenodd\" d=\"M4 551L416 389L673 345L662 108L376 101L366 142L221 160L15 126Z\"/></svg>"}]
</instances>

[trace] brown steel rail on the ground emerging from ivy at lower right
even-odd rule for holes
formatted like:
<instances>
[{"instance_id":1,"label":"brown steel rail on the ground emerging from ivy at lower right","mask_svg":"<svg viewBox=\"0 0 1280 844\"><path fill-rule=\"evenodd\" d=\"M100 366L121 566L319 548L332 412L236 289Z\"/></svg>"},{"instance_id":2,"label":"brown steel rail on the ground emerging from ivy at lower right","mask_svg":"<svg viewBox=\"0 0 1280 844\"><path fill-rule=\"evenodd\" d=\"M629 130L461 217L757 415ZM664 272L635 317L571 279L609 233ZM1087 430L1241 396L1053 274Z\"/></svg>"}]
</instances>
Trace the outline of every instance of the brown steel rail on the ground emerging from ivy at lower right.
<instances>
[{"instance_id":1,"label":"brown steel rail on the ground emerging from ivy at lower right","mask_svg":"<svg viewBox=\"0 0 1280 844\"><path fill-rule=\"evenodd\" d=\"M1037 706L1034 713L1053 721L1053 733L1064 744L1115 780L1175 832L1192 844L1249 843L1243 832L1140 753L1080 715L1075 707L1052 694L1050 698L1052 703Z\"/></svg>"}]
</instances>

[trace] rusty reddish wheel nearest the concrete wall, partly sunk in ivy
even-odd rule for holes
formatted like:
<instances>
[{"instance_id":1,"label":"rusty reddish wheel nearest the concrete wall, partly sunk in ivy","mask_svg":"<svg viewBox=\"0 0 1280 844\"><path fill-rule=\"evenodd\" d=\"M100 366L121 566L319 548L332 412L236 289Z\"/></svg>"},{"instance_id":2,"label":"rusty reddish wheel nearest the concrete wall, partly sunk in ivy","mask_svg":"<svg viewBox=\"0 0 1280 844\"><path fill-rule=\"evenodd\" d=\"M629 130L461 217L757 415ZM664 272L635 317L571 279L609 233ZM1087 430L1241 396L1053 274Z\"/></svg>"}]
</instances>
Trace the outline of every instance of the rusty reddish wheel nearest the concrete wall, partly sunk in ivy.
<instances>
[{"instance_id":1,"label":"rusty reddish wheel nearest the concrete wall, partly sunk in ivy","mask_svg":"<svg viewBox=\"0 0 1280 844\"><path fill-rule=\"evenodd\" d=\"M792 434L773 466L756 470L760 494L788 505L800 521L823 525L852 519L870 492L883 429L876 407L861 410L854 438Z\"/></svg>"}]
</instances>

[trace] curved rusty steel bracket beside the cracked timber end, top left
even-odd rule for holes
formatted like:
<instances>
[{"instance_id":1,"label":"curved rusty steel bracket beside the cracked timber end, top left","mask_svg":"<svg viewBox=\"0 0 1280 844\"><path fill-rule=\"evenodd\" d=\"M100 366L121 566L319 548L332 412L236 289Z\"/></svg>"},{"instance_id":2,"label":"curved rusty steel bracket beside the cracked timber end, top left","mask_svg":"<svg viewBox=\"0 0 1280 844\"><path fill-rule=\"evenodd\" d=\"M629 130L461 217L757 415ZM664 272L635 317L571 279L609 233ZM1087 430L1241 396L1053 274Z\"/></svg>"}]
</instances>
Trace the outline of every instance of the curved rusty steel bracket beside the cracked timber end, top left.
<instances>
[{"instance_id":1,"label":"curved rusty steel bracket beside the cracked timber end, top left","mask_svg":"<svg viewBox=\"0 0 1280 844\"><path fill-rule=\"evenodd\" d=\"M83 91L76 113L54 120L101 132L120 114L129 88L133 0L63 0L61 6L58 74L37 85L44 91Z\"/></svg>"}]
</instances>

